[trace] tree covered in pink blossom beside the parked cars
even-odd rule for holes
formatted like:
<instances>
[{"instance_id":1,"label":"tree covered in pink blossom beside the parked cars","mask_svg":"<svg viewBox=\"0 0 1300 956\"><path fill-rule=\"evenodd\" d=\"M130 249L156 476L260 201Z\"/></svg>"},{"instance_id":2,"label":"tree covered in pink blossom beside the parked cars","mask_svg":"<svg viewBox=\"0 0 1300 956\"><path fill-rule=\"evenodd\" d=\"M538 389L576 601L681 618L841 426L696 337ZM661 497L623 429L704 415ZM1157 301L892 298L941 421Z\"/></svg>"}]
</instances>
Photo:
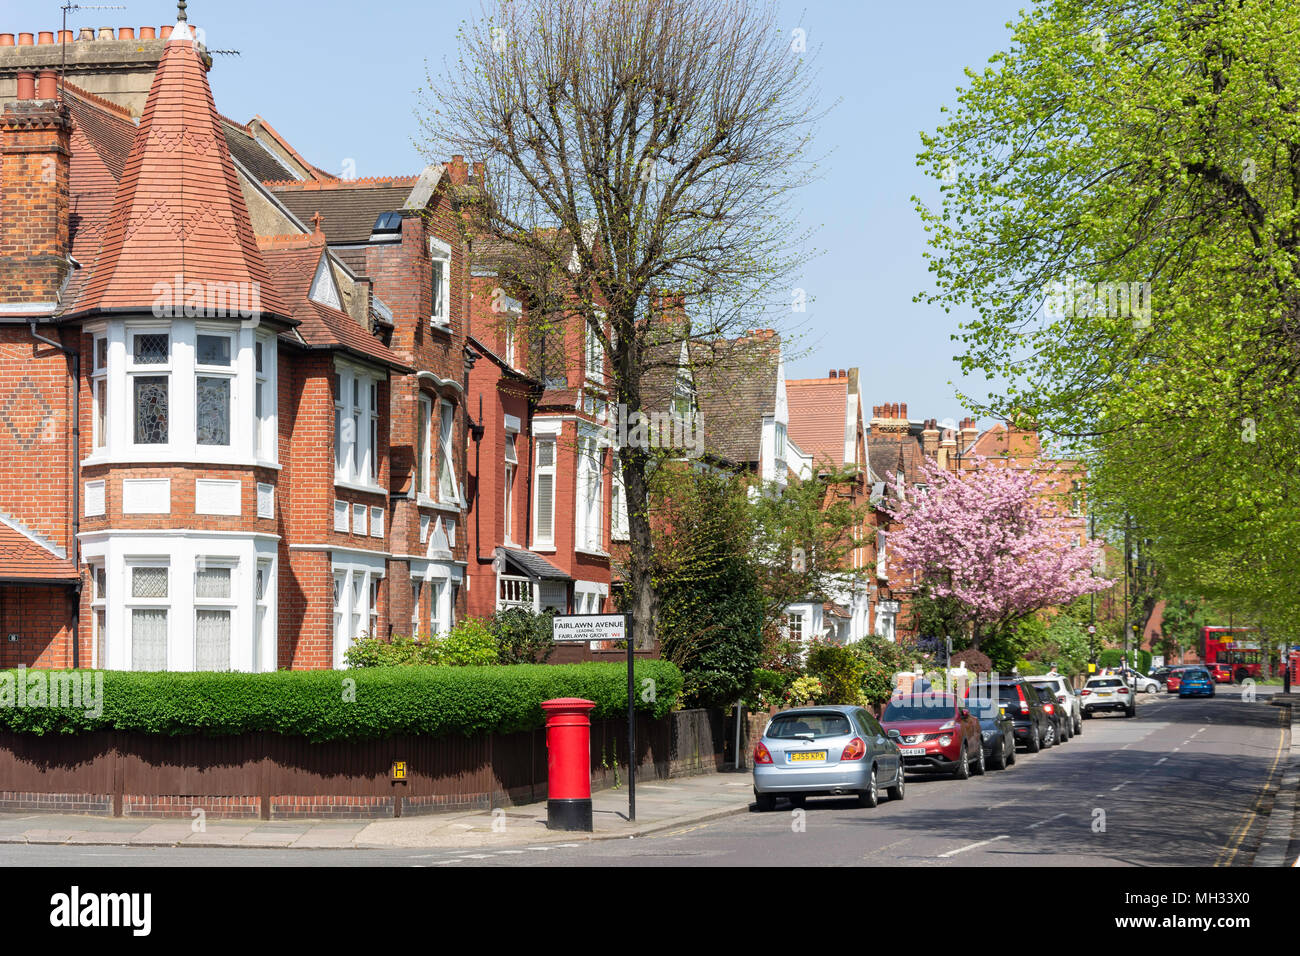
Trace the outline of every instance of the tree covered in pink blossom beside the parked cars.
<instances>
[{"instance_id":1,"label":"tree covered in pink blossom beside the parked cars","mask_svg":"<svg viewBox=\"0 0 1300 956\"><path fill-rule=\"evenodd\" d=\"M953 473L926 459L924 490L889 476L894 496L883 507L904 525L889 546L933 597L962 605L972 648L1035 611L1112 584L1093 572L1101 542L1080 544L1079 520L1063 512L1049 470L982 458Z\"/></svg>"}]
</instances>

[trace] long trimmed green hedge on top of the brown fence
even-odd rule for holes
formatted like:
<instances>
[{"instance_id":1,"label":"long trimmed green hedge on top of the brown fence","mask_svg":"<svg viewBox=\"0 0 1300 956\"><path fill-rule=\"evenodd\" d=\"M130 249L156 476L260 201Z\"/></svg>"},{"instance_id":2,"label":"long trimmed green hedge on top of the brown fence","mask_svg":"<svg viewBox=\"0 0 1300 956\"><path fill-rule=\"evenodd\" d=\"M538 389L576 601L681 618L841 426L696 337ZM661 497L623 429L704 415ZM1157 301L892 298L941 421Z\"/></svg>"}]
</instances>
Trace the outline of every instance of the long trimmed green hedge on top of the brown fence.
<instances>
[{"instance_id":1,"label":"long trimmed green hedge on top of the brown fence","mask_svg":"<svg viewBox=\"0 0 1300 956\"><path fill-rule=\"evenodd\" d=\"M26 671L26 679L30 685L34 675L48 679L52 672ZM667 714L681 693L681 672L667 661L637 661L634 672L637 709L654 717ZM166 736L270 731L320 741L526 731L545 724L540 705L552 697L595 701L594 718L628 710L625 663L101 674L103 713L94 715L87 708L13 706L17 672L0 671L6 684L0 685L0 730Z\"/></svg>"}]
</instances>

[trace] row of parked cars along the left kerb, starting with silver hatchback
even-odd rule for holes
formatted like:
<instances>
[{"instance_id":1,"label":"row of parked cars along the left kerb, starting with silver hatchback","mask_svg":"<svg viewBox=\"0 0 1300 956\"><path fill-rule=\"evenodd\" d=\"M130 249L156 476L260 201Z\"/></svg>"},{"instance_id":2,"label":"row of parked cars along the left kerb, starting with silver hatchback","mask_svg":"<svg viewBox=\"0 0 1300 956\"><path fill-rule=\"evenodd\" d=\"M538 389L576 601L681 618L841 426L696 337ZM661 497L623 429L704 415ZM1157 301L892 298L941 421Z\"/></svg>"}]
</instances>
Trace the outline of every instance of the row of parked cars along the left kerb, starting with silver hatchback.
<instances>
[{"instance_id":1,"label":"row of parked cars along the left kerb, starting with silver hatchback","mask_svg":"<svg viewBox=\"0 0 1300 956\"><path fill-rule=\"evenodd\" d=\"M758 809L775 809L777 797L793 806L810 796L855 796L859 806L876 806L881 791L902 800L907 774L965 780L1006 770L1018 749L1037 753L1063 744L1098 710L1136 713L1134 691L1121 678L1092 678L1076 692L1056 674L1010 676L979 693L987 696L897 695L879 719L861 706L775 714L754 745Z\"/></svg>"}]
</instances>

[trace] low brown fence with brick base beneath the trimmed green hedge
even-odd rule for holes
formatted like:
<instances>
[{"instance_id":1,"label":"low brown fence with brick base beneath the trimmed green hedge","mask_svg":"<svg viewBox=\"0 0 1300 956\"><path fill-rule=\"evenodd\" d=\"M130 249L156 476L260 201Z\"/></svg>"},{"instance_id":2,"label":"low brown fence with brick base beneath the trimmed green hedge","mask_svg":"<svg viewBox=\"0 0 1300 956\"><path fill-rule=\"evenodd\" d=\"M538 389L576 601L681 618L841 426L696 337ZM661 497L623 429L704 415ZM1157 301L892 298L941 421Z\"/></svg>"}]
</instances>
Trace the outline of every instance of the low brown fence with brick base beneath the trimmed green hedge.
<instances>
[{"instance_id":1,"label":"low brown fence with brick base beneath the trimmed green hedge","mask_svg":"<svg viewBox=\"0 0 1300 956\"><path fill-rule=\"evenodd\" d=\"M638 718L637 779L722 770L723 726L708 710ZM627 782L627 721L593 722L593 790ZM545 800L546 756L545 730L322 744L276 734L0 732L0 810L292 819L491 809ZM394 761L407 763L404 782L390 779Z\"/></svg>"}]
</instances>

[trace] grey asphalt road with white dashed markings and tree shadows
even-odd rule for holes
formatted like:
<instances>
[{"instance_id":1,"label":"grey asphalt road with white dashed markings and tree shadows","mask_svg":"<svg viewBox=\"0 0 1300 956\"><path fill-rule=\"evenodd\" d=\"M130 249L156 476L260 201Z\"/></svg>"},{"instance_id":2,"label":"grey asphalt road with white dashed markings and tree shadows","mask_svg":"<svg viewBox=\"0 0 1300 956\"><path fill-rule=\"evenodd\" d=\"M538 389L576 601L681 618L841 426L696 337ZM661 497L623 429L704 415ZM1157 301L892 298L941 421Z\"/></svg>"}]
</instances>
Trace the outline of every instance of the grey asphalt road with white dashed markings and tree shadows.
<instances>
[{"instance_id":1,"label":"grey asphalt road with white dashed markings and tree shadows","mask_svg":"<svg viewBox=\"0 0 1300 956\"><path fill-rule=\"evenodd\" d=\"M907 778L906 799L779 803L681 831L510 851L3 845L0 866L1182 866L1249 865L1280 777L1287 711L1139 697L1014 767Z\"/></svg>"}]
</instances>

